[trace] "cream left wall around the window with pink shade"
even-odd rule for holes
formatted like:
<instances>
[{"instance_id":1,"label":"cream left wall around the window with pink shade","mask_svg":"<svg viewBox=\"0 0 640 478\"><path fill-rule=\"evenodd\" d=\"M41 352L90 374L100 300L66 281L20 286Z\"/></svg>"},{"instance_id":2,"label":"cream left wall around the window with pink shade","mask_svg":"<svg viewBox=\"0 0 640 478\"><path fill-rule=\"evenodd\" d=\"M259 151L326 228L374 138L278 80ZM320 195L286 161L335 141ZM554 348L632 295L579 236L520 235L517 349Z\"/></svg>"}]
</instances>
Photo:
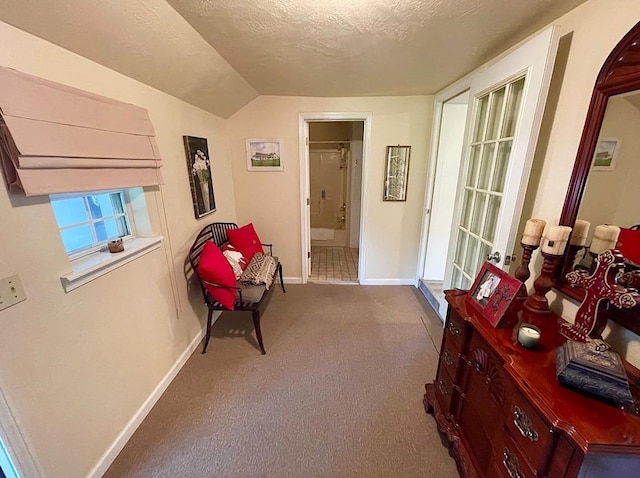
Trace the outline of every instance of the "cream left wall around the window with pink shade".
<instances>
[{"instance_id":1,"label":"cream left wall around the window with pink shade","mask_svg":"<svg viewBox=\"0 0 640 478\"><path fill-rule=\"evenodd\" d=\"M44 476L87 476L205 320L183 267L196 232L235 220L226 122L0 23L0 65L145 107L166 184L146 200L163 246L66 294L69 262L48 197L0 187L0 277L27 300L0 312L0 387ZM209 139L218 212L194 218L182 135Z\"/></svg>"}]
</instances>

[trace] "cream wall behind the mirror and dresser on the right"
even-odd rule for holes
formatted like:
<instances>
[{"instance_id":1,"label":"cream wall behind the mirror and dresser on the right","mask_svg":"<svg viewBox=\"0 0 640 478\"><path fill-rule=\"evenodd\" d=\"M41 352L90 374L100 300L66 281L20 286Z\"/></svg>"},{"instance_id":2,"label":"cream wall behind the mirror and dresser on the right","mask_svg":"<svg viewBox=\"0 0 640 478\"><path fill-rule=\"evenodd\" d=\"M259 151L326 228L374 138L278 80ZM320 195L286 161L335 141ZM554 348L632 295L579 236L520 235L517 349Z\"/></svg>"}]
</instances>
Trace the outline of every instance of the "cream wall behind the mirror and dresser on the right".
<instances>
[{"instance_id":1,"label":"cream wall behind the mirror and dresser on the right","mask_svg":"<svg viewBox=\"0 0 640 478\"><path fill-rule=\"evenodd\" d=\"M603 62L640 19L637 0L590 0L553 22L561 26L562 42L570 42L566 58L556 64L551 84L550 101L536 150L532 181L527 190L527 204L520 230L529 217L552 223L560 217L571 171L578 150L591 92ZM539 273L541 259L535 253L532 281ZM549 293L552 307L571 319L577 310L570 300ZM640 338L631 332L611 326L608 340L616 350L640 365Z\"/></svg>"}]
</instances>

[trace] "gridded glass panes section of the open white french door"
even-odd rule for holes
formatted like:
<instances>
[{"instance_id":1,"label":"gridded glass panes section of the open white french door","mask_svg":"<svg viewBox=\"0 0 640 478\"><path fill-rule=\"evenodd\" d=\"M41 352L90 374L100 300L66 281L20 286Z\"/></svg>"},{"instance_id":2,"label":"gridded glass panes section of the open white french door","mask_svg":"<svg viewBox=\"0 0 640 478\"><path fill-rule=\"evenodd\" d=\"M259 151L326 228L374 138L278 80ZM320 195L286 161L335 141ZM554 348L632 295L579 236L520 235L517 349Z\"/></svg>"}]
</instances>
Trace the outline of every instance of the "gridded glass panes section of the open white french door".
<instances>
[{"instance_id":1,"label":"gridded glass panes section of the open white french door","mask_svg":"<svg viewBox=\"0 0 640 478\"><path fill-rule=\"evenodd\" d=\"M522 76L475 99L453 254L453 287L471 287L487 255L494 250L524 85Z\"/></svg>"}]
</instances>

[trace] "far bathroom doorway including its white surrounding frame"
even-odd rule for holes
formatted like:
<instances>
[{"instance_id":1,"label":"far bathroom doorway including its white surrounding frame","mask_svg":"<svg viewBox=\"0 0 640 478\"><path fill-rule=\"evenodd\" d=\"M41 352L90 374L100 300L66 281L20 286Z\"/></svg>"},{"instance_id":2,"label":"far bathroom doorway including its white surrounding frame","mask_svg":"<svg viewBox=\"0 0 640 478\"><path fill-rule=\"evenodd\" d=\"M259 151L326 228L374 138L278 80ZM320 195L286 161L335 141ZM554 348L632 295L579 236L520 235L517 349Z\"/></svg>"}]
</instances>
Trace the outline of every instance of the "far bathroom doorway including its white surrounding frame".
<instances>
[{"instance_id":1,"label":"far bathroom doorway including its white surrounding frame","mask_svg":"<svg viewBox=\"0 0 640 478\"><path fill-rule=\"evenodd\" d=\"M301 113L302 283L364 278L370 113Z\"/></svg>"}]
</instances>

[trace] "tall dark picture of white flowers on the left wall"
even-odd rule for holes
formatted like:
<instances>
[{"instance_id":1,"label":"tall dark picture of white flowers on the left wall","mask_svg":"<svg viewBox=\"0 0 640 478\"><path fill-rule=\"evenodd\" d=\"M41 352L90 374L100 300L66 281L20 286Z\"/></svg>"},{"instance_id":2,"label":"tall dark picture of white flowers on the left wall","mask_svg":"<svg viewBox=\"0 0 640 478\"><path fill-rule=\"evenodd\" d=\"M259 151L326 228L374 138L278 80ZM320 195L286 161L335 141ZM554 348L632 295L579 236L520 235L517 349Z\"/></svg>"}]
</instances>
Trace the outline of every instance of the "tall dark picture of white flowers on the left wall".
<instances>
[{"instance_id":1,"label":"tall dark picture of white flowers on the left wall","mask_svg":"<svg viewBox=\"0 0 640 478\"><path fill-rule=\"evenodd\" d=\"M193 211L197 219L216 210L209 148L207 147L206 138L183 136L182 139L184 140L184 149L187 154Z\"/></svg>"}]
</instances>

